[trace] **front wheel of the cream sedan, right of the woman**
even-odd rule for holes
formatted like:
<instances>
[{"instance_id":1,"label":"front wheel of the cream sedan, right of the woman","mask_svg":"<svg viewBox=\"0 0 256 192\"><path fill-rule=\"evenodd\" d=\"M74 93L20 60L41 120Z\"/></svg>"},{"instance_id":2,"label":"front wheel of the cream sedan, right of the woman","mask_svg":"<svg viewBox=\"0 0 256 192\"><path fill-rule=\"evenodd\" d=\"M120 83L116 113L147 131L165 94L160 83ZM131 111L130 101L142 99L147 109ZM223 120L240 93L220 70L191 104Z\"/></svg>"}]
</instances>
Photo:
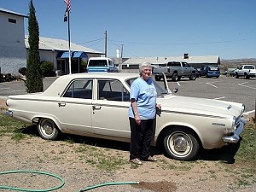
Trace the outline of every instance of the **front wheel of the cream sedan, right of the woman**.
<instances>
[{"instance_id":1,"label":"front wheel of the cream sedan, right of the woman","mask_svg":"<svg viewBox=\"0 0 256 192\"><path fill-rule=\"evenodd\" d=\"M190 131L175 129L168 131L164 138L166 153L176 160L193 160L200 150L195 135Z\"/></svg>"}]
</instances>

